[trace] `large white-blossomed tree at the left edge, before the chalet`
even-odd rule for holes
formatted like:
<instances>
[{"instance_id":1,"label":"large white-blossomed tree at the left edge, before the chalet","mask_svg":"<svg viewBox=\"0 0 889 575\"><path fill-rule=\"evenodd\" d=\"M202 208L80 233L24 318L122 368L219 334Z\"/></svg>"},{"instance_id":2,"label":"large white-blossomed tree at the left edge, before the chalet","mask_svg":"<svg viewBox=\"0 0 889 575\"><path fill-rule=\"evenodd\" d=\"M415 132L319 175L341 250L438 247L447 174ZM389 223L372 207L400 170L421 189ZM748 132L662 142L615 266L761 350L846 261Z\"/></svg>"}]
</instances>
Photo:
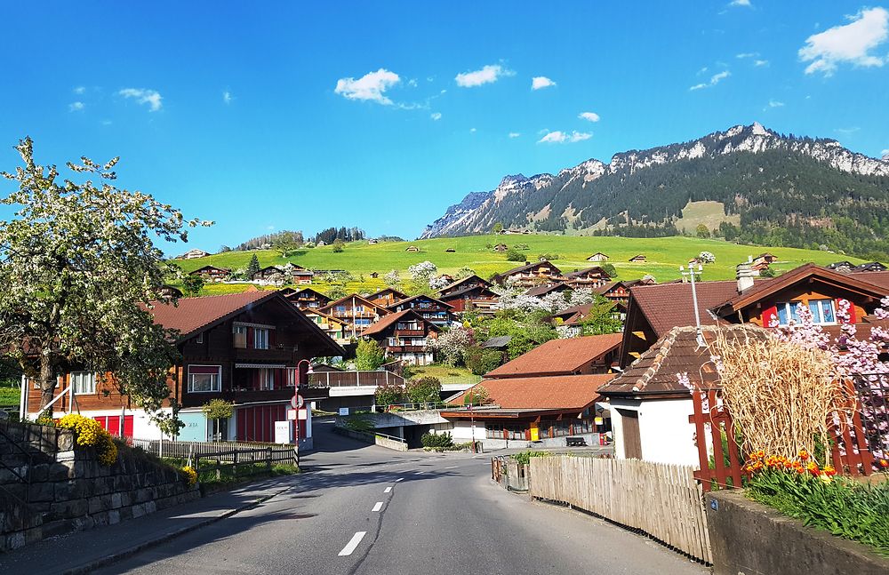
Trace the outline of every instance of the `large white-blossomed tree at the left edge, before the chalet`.
<instances>
[{"instance_id":1,"label":"large white-blossomed tree at the left edge, before the chalet","mask_svg":"<svg viewBox=\"0 0 889 575\"><path fill-rule=\"evenodd\" d=\"M41 407L52 401L56 376L79 364L113 374L117 390L173 431L178 422L155 412L170 398L175 334L148 307L162 299L164 275L177 272L153 240L185 242L186 228L212 222L186 221L153 196L116 188L117 158L68 163L87 178L77 183L36 164L30 139L17 149L24 165L3 176L18 189L0 200L18 206L0 221L0 348L36 381Z\"/></svg>"}]
</instances>

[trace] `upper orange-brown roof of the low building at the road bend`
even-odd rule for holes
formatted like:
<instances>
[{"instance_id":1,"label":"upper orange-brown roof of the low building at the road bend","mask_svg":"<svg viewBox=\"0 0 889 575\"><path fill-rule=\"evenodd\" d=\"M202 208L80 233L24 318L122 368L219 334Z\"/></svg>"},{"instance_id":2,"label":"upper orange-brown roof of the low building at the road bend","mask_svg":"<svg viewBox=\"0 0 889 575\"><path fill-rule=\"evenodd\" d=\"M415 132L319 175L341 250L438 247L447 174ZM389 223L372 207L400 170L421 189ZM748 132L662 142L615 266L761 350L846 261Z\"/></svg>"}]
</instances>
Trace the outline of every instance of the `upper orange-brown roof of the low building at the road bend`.
<instances>
[{"instance_id":1,"label":"upper orange-brown roof of the low building at the road bend","mask_svg":"<svg viewBox=\"0 0 889 575\"><path fill-rule=\"evenodd\" d=\"M621 345L620 333L552 339L504 363L485 378L516 378L532 374L570 374Z\"/></svg>"}]
</instances>

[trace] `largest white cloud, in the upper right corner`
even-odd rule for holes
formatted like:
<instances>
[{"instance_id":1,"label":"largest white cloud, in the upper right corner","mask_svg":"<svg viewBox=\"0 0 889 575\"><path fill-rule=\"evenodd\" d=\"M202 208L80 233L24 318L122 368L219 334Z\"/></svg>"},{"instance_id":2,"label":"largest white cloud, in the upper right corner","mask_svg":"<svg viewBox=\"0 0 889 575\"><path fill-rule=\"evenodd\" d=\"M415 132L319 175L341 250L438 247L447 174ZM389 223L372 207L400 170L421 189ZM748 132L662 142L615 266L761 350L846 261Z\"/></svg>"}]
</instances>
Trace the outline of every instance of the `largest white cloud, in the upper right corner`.
<instances>
[{"instance_id":1,"label":"largest white cloud, in the upper right corner","mask_svg":"<svg viewBox=\"0 0 889 575\"><path fill-rule=\"evenodd\" d=\"M889 38L889 12L885 8L869 8L854 16L845 26L835 26L805 40L799 49L799 59L812 62L805 68L806 74L821 72L831 76L837 65L847 62L855 67L883 66L889 56L871 53Z\"/></svg>"}]
</instances>

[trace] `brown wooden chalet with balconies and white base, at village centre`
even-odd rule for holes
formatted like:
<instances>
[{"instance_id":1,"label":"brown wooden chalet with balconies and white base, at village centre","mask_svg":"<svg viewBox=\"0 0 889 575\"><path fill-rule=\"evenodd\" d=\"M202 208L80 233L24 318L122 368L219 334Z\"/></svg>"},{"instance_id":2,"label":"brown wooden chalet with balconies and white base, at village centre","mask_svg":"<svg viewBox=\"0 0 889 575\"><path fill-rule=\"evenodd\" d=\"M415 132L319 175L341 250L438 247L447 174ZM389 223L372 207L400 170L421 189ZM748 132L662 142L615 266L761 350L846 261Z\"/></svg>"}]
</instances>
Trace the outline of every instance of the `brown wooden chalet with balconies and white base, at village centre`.
<instances>
[{"instance_id":1,"label":"brown wooden chalet with balconies and white base, at village centre","mask_svg":"<svg viewBox=\"0 0 889 575\"><path fill-rule=\"evenodd\" d=\"M436 339L441 328L429 322L413 309L389 314L364 330L365 338L375 340L386 352L389 360L411 365L433 363L428 343Z\"/></svg>"}]
</instances>

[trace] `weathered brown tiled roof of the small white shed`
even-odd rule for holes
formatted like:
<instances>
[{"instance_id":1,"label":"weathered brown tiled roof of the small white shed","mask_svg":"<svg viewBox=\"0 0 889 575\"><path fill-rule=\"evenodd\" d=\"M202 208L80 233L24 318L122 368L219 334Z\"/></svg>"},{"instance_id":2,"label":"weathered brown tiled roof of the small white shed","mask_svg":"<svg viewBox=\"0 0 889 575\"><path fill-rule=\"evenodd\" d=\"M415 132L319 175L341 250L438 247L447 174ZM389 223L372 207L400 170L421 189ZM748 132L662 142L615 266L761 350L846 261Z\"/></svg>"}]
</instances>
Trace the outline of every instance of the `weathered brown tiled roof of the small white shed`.
<instances>
[{"instance_id":1,"label":"weathered brown tiled roof of the small white shed","mask_svg":"<svg viewBox=\"0 0 889 575\"><path fill-rule=\"evenodd\" d=\"M718 331L728 337L767 337L767 331L755 325L704 326L705 341L715 339ZM716 385L719 377L710 363L709 347L698 347L694 327L675 327L658 339L621 375L599 387L602 395L689 395L679 383L677 373L687 372L689 379L704 387Z\"/></svg>"}]
</instances>

